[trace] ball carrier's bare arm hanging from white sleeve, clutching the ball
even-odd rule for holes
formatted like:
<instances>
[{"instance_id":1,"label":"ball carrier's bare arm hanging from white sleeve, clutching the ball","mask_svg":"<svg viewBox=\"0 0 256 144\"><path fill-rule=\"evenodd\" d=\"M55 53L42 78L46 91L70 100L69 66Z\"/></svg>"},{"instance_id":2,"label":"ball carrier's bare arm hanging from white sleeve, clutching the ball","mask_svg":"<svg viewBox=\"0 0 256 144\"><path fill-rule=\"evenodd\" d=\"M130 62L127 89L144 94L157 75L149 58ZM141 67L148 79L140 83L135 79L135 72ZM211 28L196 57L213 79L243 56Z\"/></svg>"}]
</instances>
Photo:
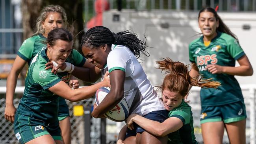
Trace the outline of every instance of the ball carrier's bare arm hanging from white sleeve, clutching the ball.
<instances>
[{"instance_id":1,"label":"ball carrier's bare arm hanging from white sleeve, clutching the ball","mask_svg":"<svg viewBox=\"0 0 256 144\"><path fill-rule=\"evenodd\" d=\"M92 112L92 116L95 118L100 118L104 113L115 107L124 97L125 72L122 70L113 70L109 76L111 90Z\"/></svg>"}]
</instances>

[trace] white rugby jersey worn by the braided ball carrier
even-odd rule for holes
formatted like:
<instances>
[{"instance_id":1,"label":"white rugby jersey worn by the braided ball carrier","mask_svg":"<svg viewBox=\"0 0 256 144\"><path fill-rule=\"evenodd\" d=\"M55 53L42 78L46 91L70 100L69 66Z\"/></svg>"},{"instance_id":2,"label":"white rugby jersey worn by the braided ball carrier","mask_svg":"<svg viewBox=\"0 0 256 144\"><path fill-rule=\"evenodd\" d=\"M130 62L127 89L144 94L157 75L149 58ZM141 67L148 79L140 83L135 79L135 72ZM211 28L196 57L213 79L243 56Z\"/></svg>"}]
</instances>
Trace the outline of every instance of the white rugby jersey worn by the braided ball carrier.
<instances>
[{"instance_id":1,"label":"white rugby jersey worn by the braided ball carrier","mask_svg":"<svg viewBox=\"0 0 256 144\"><path fill-rule=\"evenodd\" d=\"M158 98L142 66L129 48L122 45L111 46L107 65L102 74L109 70L125 72L124 98L130 108L130 114L145 115L152 111L165 110L163 102Z\"/></svg>"}]
</instances>

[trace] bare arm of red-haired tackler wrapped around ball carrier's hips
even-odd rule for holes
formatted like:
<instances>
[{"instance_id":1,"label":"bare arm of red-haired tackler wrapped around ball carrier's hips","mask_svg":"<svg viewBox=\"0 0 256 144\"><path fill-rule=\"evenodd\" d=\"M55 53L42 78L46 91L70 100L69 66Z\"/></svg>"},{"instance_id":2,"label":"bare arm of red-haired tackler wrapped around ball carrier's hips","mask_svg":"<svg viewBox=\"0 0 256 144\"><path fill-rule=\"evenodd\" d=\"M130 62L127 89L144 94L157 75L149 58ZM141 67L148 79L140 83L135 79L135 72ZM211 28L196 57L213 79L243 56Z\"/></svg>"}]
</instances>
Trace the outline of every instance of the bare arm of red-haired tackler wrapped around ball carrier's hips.
<instances>
[{"instance_id":1,"label":"bare arm of red-haired tackler wrapped around ball carrier's hips","mask_svg":"<svg viewBox=\"0 0 256 144\"><path fill-rule=\"evenodd\" d=\"M132 126L133 122L141 126L147 132L152 133L153 135L158 137L164 137L169 133L177 131L183 126L182 120L176 117L167 118L164 122L160 123L154 120L149 120L137 114L131 114L127 118L128 128L134 129L134 127Z\"/></svg>"}]
</instances>

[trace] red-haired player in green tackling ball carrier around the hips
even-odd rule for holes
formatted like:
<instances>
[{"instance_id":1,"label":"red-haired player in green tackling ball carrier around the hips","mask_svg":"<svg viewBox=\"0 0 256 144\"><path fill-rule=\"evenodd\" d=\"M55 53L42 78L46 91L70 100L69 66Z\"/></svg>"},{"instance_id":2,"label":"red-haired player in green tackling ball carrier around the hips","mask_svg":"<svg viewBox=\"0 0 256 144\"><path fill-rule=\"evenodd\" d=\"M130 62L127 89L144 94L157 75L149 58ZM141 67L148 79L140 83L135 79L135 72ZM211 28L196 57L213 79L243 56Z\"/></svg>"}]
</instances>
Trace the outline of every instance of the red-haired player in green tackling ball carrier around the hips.
<instances>
[{"instance_id":1,"label":"red-haired player in green tackling ball carrier around the hips","mask_svg":"<svg viewBox=\"0 0 256 144\"><path fill-rule=\"evenodd\" d=\"M164 70L166 74L160 88L165 109L169 111L169 118L164 122L155 122L137 114L131 114L127 119L127 126L129 129L134 129L135 122L152 135L158 137L168 135L168 143L171 144L197 144L191 107L184 102L184 96L188 93L189 85L217 88L220 83L210 81L210 79L198 80L198 76L192 78L187 69L189 65L186 66L178 61L174 62L168 57L157 61L157 63L158 68Z\"/></svg>"}]
</instances>

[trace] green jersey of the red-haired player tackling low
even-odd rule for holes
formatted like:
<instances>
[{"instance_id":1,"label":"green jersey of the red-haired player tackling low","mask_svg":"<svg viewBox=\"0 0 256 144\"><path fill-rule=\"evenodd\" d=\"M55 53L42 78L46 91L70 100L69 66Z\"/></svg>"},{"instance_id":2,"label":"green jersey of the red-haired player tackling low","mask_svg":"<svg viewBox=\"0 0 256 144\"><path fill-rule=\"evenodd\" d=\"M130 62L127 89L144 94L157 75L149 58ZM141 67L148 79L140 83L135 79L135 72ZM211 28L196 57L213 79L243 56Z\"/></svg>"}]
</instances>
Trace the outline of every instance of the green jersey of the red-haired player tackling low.
<instances>
[{"instance_id":1,"label":"green jersey of the red-haired player tackling low","mask_svg":"<svg viewBox=\"0 0 256 144\"><path fill-rule=\"evenodd\" d=\"M197 144L191 107L184 100L169 112L169 117L179 118L184 125L178 131L168 134L168 144Z\"/></svg>"}]
</instances>

